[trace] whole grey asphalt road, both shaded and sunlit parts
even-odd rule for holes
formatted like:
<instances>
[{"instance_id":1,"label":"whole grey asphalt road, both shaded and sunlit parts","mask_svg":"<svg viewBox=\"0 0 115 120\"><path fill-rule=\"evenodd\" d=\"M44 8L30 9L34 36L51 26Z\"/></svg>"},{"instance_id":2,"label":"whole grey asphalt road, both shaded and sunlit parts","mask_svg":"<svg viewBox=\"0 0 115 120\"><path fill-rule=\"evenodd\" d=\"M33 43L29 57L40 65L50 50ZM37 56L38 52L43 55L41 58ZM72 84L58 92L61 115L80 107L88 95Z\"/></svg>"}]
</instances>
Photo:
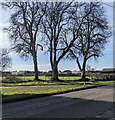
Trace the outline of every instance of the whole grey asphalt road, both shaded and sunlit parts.
<instances>
[{"instance_id":1,"label":"whole grey asphalt road, both shaded and sunlit parts","mask_svg":"<svg viewBox=\"0 0 115 120\"><path fill-rule=\"evenodd\" d=\"M113 88L93 89L3 104L3 118L113 118Z\"/></svg>"}]
</instances>

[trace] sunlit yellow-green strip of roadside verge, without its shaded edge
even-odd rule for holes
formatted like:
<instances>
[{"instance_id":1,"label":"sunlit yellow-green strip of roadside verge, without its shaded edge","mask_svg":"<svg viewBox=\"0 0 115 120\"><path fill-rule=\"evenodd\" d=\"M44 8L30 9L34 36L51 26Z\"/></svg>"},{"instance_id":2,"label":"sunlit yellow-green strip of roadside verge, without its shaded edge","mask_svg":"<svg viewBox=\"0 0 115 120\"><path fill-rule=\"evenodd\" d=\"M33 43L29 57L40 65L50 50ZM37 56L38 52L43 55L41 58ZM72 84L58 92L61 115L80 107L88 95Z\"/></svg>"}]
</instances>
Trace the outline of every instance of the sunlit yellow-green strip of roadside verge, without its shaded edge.
<instances>
[{"instance_id":1,"label":"sunlit yellow-green strip of roadside verge, without its shaded edge","mask_svg":"<svg viewBox=\"0 0 115 120\"><path fill-rule=\"evenodd\" d=\"M74 89L79 86L45 86L45 87L21 87L21 88L3 88L3 95L15 95L15 94L43 94L43 93L54 93L63 91L66 89Z\"/></svg>"}]
</instances>

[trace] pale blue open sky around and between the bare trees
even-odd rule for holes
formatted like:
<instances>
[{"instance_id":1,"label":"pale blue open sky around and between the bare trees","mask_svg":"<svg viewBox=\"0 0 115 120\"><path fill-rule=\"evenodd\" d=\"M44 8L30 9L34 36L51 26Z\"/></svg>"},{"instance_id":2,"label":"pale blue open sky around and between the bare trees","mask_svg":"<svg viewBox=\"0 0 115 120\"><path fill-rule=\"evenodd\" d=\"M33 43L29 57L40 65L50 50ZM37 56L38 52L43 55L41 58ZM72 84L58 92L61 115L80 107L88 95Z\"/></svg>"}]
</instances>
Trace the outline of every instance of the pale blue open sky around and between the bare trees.
<instances>
[{"instance_id":1,"label":"pale blue open sky around and between the bare trees","mask_svg":"<svg viewBox=\"0 0 115 120\"><path fill-rule=\"evenodd\" d=\"M84 1L84 0L83 0ZM91 0L90 0L91 1ZM103 2L113 5L113 0L103 0ZM110 6L105 5L107 11L107 18L109 21L110 26L113 26L113 8ZM9 48L9 38L7 33L3 32L3 28L9 25L9 11L3 10L0 8L0 49L1 48ZM104 56L99 58L97 61L89 60L88 65L92 68L103 69L103 68L110 68L113 67L113 36L109 39L109 43L106 45L106 49L103 51ZM15 53L10 53L12 57L12 67L8 70L33 70L32 59L28 59L27 61L22 60L18 55ZM49 71L50 64L49 64L49 56L44 54L44 52L38 52L38 63L39 63L39 70L42 71ZM77 64L73 61L62 60L58 66L60 70L78 70Z\"/></svg>"}]
</instances>

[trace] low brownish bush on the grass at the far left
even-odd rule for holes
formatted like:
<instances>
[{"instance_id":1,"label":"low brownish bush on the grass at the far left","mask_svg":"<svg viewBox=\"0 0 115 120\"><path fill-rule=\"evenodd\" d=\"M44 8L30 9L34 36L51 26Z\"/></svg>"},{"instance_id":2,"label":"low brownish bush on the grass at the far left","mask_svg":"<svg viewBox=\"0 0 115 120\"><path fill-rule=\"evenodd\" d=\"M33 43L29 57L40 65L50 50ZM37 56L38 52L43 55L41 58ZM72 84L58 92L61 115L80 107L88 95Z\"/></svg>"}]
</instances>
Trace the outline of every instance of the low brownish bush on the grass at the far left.
<instances>
[{"instance_id":1,"label":"low brownish bush on the grass at the far left","mask_svg":"<svg viewBox=\"0 0 115 120\"><path fill-rule=\"evenodd\" d=\"M6 76L3 80L3 83L20 83L23 82L21 79L16 78L15 76Z\"/></svg>"}]
</instances>

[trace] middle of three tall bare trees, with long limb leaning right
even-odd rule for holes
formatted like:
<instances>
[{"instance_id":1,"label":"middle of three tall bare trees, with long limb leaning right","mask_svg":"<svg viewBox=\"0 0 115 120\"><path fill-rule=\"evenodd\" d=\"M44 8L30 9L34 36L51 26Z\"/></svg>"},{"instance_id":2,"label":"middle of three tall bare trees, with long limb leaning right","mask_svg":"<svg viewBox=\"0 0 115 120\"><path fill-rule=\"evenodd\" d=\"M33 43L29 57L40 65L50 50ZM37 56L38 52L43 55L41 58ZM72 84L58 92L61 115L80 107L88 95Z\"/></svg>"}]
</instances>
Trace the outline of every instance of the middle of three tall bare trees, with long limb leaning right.
<instances>
[{"instance_id":1,"label":"middle of three tall bare trees, with long limb leaning right","mask_svg":"<svg viewBox=\"0 0 115 120\"><path fill-rule=\"evenodd\" d=\"M53 71L52 80L54 81L58 81L58 64L60 60L64 58L73 46L85 17L91 11L80 16L82 5L84 3L48 3L47 12L42 20L42 33L44 33L44 45L48 48L50 54L50 63Z\"/></svg>"}]
</instances>

